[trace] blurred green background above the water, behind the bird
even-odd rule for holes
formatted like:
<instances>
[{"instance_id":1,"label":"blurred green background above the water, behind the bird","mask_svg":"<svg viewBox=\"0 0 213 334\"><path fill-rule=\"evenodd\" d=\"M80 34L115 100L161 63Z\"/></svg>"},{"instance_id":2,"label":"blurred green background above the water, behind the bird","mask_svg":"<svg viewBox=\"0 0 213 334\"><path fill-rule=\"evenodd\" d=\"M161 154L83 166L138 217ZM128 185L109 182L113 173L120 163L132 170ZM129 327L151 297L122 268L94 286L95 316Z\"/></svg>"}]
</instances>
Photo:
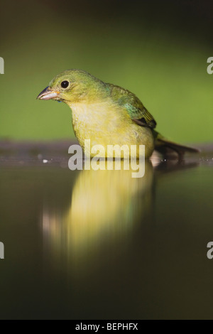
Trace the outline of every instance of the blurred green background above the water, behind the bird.
<instances>
[{"instance_id":1,"label":"blurred green background above the water, behind the bird","mask_svg":"<svg viewBox=\"0 0 213 334\"><path fill-rule=\"evenodd\" d=\"M69 107L38 101L67 68L134 92L175 141L212 141L213 2L3 1L0 139L72 139Z\"/></svg>"}]
</instances>

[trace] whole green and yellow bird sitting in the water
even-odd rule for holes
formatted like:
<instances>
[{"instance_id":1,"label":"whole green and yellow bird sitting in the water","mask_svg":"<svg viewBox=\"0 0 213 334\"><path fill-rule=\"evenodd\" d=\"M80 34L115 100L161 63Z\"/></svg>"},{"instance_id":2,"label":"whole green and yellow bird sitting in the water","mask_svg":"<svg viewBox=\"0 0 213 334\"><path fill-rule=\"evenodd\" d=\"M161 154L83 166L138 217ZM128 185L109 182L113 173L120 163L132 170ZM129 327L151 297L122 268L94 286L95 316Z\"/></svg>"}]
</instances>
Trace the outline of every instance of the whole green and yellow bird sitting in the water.
<instances>
[{"instance_id":1,"label":"whole green and yellow bird sitting in the water","mask_svg":"<svg viewBox=\"0 0 213 334\"><path fill-rule=\"evenodd\" d=\"M91 146L145 145L149 158L156 149L166 153L176 151L179 157L185 151L195 152L187 146L168 141L155 131L156 122L143 103L129 90L105 83L83 70L65 70L57 75L38 99L55 99L72 109L72 126L75 136L84 149L84 140ZM84 153L92 156L91 152ZM119 151L121 153L121 151ZM116 157L116 151L114 151ZM137 151L138 158L138 151ZM97 155L97 153L95 154Z\"/></svg>"}]
</instances>

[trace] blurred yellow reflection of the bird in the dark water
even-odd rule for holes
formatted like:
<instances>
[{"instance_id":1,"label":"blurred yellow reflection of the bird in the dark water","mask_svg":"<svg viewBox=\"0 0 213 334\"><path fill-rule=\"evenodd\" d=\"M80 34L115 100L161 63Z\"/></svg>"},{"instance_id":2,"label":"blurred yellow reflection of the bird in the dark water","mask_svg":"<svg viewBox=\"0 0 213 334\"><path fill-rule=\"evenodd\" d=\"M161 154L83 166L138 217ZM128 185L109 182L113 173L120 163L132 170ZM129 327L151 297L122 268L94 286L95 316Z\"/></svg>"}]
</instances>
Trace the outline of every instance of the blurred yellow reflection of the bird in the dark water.
<instances>
[{"instance_id":1,"label":"blurred yellow reflection of the bird in the dark water","mask_svg":"<svg viewBox=\"0 0 213 334\"><path fill-rule=\"evenodd\" d=\"M146 161L143 178L132 178L132 171L123 166L120 171L77 172L69 208L55 210L44 203L45 253L78 262L107 242L112 245L122 239L128 243L133 229L151 212L152 194L150 161Z\"/></svg>"}]
</instances>

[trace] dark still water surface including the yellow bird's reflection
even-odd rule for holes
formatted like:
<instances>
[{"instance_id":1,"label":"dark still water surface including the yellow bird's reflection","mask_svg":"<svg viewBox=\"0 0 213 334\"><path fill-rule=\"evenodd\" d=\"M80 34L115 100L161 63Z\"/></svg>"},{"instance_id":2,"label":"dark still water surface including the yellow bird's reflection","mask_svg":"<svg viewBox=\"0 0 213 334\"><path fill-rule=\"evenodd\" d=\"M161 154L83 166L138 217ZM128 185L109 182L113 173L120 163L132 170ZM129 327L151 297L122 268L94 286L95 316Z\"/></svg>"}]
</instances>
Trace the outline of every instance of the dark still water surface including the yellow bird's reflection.
<instances>
[{"instance_id":1,"label":"dark still water surface including the yellow bird's reflection","mask_svg":"<svg viewBox=\"0 0 213 334\"><path fill-rule=\"evenodd\" d=\"M211 153L136 179L38 151L1 154L1 319L212 318Z\"/></svg>"}]
</instances>

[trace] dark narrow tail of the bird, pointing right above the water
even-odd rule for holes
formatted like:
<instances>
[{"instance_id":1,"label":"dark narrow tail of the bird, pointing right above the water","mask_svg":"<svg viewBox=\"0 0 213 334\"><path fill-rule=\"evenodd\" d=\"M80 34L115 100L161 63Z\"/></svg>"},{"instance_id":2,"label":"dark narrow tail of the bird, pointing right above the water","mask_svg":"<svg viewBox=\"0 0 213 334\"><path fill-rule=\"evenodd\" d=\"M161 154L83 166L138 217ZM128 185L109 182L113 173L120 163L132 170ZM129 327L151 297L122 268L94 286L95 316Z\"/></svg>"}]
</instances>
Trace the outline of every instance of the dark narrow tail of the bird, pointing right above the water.
<instances>
[{"instance_id":1,"label":"dark narrow tail of the bird, pointing right above the water","mask_svg":"<svg viewBox=\"0 0 213 334\"><path fill-rule=\"evenodd\" d=\"M155 150L162 153L163 155L168 155L170 151L175 151L178 153L178 157L182 158L185 152L198 153L199 150L192 147L184 146L181 144L176 144L173 141L165 139L157 131L153 130L153 135L155 137Z\"/></svg>"}]
</instances>

